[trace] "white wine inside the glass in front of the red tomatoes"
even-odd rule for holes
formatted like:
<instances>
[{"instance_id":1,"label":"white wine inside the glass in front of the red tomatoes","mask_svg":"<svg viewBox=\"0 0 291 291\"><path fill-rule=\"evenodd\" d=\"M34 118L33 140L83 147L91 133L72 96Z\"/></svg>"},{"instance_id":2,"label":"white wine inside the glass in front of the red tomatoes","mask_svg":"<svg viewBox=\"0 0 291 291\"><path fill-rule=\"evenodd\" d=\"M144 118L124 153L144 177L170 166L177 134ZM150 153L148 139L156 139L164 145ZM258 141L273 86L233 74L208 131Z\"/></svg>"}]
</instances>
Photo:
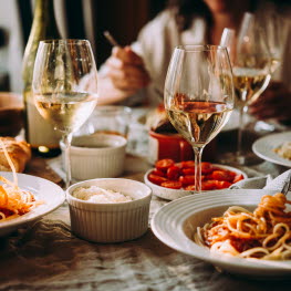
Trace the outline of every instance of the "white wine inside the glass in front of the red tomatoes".
<instances>
[{"instance_id":1,"label":"white wine inside the glass in front of the red tomatoes","mask_svg":"<svg viewBox=\"0 0 291 291\"><path fill-rule=\"evenodd\" d=\"M220 102L187 101L167 108L174 127L191 144L202 147L225 126L232 106Z\"/></svg>"}]
</instances>

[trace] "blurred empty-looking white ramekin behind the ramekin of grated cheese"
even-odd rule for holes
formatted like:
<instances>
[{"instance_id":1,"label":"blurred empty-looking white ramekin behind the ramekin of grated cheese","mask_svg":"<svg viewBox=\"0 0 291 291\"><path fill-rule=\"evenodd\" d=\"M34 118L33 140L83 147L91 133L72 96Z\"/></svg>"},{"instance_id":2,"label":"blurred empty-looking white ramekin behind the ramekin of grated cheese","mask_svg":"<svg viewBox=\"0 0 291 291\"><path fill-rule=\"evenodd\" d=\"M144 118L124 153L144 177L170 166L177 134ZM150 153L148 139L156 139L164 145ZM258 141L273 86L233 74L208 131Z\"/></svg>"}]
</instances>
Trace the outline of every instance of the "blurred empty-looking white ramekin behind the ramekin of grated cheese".
<instances>
[{"instance_id":1,"label":"blurred empty-looking white ramekin behind the ramekin of grated cheese","mask_svg":"<svg viewBox=\"0 0 291 291\"><path fill-rule=\"evenodd\" d=\"M127 141L113 134L93 134L73 138L70 157L76 180L115 178L124 172ZM61 148L64 144L61 142Z\"/></svg>"}]
</instances>

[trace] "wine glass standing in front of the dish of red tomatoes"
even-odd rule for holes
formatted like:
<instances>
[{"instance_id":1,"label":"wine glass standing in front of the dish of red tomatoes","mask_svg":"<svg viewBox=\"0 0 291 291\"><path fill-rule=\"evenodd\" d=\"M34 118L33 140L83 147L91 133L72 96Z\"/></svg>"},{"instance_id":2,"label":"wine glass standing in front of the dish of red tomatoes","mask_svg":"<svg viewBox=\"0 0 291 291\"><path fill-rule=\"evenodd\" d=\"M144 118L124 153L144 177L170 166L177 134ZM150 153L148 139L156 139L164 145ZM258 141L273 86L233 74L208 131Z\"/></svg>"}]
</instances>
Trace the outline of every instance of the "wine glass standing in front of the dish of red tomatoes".
<instances>
[{"instance_id":1,"label":"wine glass standing in front of the dish of red tomatoes","mask_svg":"<svg viewBox=\"0 0 291 291\"><path fill-rule=\"evenodd\" d=\"M181 45L174 50L165 82L165 108L195 152L195 190L201 191L202 149L227 123L235 103L226 48Z\"/></svg>"}]
</instances>

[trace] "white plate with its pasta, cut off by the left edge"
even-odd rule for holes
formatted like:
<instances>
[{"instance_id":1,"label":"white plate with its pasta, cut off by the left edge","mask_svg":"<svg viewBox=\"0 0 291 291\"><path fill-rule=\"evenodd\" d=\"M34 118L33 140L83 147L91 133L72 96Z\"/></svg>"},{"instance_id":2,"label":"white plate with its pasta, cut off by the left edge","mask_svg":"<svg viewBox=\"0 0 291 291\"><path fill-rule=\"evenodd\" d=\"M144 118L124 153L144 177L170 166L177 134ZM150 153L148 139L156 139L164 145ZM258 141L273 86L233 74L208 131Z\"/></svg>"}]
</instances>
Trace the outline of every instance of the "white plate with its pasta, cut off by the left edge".
<instances>
[{"instance_id":1,"label":"white plate with its pasta, cut off by the left edge","mask_svg":"<svg viewBox=\"0 0 291 291\"><path fill-rule=\"evenodd\" d=\"M50 180L0 172L0 236L40 219L64 200L63 189Z\"/></svg>"}]
</instances>

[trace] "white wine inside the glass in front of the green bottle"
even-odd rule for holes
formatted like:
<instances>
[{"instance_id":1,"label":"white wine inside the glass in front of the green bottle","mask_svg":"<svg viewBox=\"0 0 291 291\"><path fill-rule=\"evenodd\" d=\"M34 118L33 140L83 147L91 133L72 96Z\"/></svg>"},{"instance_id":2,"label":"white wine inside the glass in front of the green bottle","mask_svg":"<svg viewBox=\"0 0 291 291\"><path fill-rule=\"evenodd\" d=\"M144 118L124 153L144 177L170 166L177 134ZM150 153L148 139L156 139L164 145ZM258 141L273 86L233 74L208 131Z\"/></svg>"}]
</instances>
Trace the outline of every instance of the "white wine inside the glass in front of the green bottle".
<instances>
[{"instance_id":1,"label":"white wine inside the glass in front of the green bottle","mask_svg":"<svg viewBox=\"0 0 291 291\"><path fill-rule=\"evenodd\" d=\"M34 95L43 118L63 133L75 132L87 119L96 105L96 97L87 93Z\"/></svg>"}]
</instances>

